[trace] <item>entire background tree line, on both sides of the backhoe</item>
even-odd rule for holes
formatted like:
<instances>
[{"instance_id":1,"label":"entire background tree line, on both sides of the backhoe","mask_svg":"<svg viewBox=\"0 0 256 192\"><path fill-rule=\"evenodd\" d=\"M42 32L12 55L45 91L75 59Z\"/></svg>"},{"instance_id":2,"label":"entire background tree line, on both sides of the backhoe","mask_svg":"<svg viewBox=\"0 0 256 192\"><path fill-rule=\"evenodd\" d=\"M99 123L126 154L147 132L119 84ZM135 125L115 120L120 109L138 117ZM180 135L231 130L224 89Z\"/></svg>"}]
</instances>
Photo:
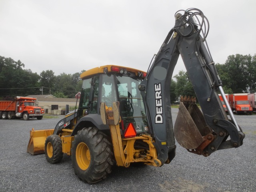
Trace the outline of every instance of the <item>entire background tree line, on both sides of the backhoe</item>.
<instances>
[{"instance_id":1,"label":"entire background tree line, on both sides of the backhoe","mask_svg":"<svg viewBox=\"0 0 256 192\"><path fill-rule=\"evenodd\" d=\"M25 65L0 56L0 97L52 94L58 98L74 98L82 87L81 72L54 75L52 70L40 74L24 69ZM224 64L216 64L224 92L256 92L256 54L230 55ZM170 97L175 102L181 95L195 96L187 72L179 71L171 81Z\"/></svg>"}]
</instances>

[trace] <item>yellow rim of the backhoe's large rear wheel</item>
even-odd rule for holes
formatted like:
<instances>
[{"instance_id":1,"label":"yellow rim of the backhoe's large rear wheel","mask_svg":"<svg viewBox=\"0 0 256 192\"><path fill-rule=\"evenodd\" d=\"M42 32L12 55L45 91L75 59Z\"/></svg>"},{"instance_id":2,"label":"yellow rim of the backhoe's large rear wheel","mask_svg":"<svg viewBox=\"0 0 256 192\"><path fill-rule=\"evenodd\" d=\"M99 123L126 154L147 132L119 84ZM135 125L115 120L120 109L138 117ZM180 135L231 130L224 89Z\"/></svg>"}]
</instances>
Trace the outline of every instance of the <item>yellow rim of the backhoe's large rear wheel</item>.
<instances>
[{"instance_id":1,"label":"yellow rim of the backhoe's large rear wheel","mask_svg":"<svg viewBox=\"0 0 256 192\"><path fill-rule=\"evenodd\" d=\"M76 148L76 162L80 169L86 170L90 165L91 155L88 146L81 142Z\"/></svg>"}]
</instances>

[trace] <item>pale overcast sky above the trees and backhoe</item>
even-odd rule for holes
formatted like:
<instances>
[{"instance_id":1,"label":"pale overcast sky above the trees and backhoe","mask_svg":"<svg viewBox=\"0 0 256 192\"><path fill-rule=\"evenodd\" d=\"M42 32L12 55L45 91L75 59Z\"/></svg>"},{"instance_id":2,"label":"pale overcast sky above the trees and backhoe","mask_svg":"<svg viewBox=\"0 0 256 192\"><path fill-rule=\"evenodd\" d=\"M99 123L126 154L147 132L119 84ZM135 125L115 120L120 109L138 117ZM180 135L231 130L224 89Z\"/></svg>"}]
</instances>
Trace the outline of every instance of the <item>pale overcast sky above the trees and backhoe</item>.
<instances>
[{"instance_id":1,"label":"pale overcast sky above the trees and backhoe","mask_svg":"<svg viewBox=\"0 0 256 192\"><path fill-rule=\"evenodd\" d=\"M178 10L210 23L215 63L256 54L255 0L0 0L0 56L55 75L114 64L147 71ZM174 69L186 71L179 58Z\"/></svg>"}]
</instances>

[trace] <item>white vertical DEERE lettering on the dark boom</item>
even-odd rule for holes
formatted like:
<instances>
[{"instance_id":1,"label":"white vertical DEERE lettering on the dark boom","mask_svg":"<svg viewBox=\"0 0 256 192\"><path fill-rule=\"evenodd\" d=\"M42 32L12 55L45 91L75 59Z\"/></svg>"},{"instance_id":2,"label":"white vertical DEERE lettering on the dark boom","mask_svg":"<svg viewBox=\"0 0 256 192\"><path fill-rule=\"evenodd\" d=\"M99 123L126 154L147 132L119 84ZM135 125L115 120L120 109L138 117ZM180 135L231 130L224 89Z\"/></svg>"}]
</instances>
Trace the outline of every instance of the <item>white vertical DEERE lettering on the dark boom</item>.
<instances>
[{"instance_id":1,"label":"white vertical DEERE lettering on the dark boom","mask_svg":"<svg viewBox=\"0 0 256 192\"><path fill-rule=\"evenodd\" d=\"M156 101L156 116L155 123L162 124L163 123L163 104L162 104L162 91L161 91L161 83L154 84L155 88L155 101Z\"/></svg>"}]
</instances>

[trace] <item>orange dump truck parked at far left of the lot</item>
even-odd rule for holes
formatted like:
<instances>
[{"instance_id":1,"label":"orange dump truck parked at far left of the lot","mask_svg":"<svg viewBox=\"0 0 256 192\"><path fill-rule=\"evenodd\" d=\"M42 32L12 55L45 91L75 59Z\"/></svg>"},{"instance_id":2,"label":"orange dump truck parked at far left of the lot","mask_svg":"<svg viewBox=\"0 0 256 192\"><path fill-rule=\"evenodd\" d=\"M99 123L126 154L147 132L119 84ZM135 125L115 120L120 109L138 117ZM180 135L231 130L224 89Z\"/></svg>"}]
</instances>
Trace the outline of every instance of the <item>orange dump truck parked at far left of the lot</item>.
<instances>
[{"instance_id":1,"label":"orange dump truck parked at far left of the lot","mask_svg":"<svg viewBox=\"0 0 256 192\"><path fill-rule=\"evenodd\" d=\"M44 116L44 109L36 106L36 98L31 97L14 97L14 100L1 100L0 101L0 118L14 119L23 118L37 118L41 120Z\"/></svg>"}]
</instances>

